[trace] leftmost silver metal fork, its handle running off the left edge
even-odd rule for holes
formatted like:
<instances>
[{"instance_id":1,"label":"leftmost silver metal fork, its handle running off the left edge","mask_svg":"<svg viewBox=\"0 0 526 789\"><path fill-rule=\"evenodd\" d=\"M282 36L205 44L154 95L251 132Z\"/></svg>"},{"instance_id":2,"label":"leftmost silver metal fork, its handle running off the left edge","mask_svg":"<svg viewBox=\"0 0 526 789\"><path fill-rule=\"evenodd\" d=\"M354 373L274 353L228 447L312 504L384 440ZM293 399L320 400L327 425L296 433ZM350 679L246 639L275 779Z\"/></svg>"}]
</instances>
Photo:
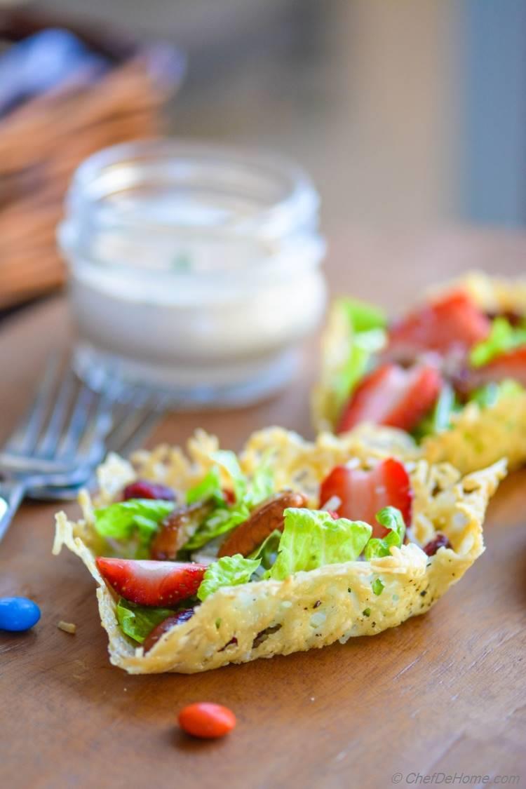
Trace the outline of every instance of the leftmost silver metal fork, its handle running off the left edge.
<instances>
[{"instance_id":1,"label":"leftmost silver metal fork, its handle running off the left edge","mask_svg":"<svg viewBox=\"0 0 526 789\"><path fill-rule=\"evenodd\" d=\"M26 492L78 487L103 458L113 393L95 393L59 366L58 357L48 363L35 402L0 451L0 540Z\"/></svg>"}]
</instances>

